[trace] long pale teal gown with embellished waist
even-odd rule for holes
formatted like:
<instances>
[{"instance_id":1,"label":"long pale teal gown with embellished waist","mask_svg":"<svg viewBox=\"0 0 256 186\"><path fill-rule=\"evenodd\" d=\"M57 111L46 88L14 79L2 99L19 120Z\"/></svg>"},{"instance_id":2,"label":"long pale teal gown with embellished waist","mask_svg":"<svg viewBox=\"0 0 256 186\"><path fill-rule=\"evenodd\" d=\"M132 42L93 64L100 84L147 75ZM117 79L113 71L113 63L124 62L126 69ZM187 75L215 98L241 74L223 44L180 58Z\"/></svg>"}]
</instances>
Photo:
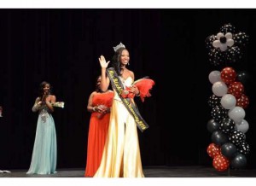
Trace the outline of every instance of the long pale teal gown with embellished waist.
<instances>
[{"instance_id":1,"label":"long pale teal gown with embellished waist","mask_svg":"<svg viewBox=\"0 0 256 186\"><path fill-rule=\"evenodd\" d=\"M26 174L55 173L57 145L55 122L47 106L38 108L38 125L32 152L32 161Z\"/></svg>"}]
</instances>

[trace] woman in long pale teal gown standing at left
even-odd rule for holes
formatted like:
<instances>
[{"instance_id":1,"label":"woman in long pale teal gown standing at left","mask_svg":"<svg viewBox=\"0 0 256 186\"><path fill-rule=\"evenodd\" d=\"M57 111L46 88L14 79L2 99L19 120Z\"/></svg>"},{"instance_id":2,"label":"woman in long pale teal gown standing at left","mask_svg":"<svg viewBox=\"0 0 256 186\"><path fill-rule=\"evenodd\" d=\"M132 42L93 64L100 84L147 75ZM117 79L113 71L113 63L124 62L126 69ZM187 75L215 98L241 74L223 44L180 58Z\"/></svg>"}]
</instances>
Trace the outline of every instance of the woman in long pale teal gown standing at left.
<instances>
[{"instance_id":1,"label":"woman in long pale teal gown standing at left","mask_svg":"<svg viewBox=\"0 0 256 186\"><path fill-rule=\"evenodd\" d=\"M26 174L52 174L55 173L57 162L57 144L55 133L55 121L51 115L54 112L52 103L56 97L50 95L50 84L40 84L40 93L32 107L33 112L38 112L38 125L32 161Z\"/></svg>"}]
</instances>

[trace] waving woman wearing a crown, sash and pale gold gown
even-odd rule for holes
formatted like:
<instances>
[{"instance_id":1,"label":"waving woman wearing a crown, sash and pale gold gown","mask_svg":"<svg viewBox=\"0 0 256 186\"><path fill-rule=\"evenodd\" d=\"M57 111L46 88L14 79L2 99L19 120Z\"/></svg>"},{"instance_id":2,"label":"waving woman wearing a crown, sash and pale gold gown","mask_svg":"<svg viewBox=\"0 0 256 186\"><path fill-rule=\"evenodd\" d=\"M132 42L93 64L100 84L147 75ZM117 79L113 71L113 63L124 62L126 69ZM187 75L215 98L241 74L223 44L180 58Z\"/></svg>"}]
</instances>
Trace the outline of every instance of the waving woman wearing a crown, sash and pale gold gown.
<instances>
[{"instance_id":1,"label":"waving woman wearing a crown, sash and pale gold gown","mask_svg":"<svg viewBox=\"0 0 256 186\"><path fill-rule=\"evenodd\" d=\"M140 96L140 90L132 85L134 73L126 68L130 55L125 45L120 43L114 51L113 67L108 68L110 61L107 62L103 55L99 58L101 89L108 90L111 84L114 96L102 161L94 177L144 177L137 127L143 131L148 125L133 99Z\"/></svg>"}]
</instances>

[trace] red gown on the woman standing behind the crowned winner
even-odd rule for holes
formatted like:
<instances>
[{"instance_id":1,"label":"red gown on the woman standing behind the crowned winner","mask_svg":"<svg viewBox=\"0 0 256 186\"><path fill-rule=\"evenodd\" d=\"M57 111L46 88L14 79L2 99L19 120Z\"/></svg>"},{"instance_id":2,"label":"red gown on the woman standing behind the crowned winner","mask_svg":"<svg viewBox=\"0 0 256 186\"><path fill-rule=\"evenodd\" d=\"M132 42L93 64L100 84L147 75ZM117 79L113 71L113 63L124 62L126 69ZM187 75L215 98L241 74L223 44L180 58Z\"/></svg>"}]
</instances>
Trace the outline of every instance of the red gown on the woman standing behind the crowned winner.
<instances>
[{"instance_id":1,"label":"red gown on the woman standing behind the crowned winner","mask_svg":"<svg viewBox=\"0 0 256 186\"><path fill-rule=\"evenodd\" d=\"M92 97L92 106L105 105L111 108L113 91L99 93ZM87 160L84 177L93 177L102 160L102 151L108 133L110 113L91 113L88 133Z\"/></svg>"}]
</instances>

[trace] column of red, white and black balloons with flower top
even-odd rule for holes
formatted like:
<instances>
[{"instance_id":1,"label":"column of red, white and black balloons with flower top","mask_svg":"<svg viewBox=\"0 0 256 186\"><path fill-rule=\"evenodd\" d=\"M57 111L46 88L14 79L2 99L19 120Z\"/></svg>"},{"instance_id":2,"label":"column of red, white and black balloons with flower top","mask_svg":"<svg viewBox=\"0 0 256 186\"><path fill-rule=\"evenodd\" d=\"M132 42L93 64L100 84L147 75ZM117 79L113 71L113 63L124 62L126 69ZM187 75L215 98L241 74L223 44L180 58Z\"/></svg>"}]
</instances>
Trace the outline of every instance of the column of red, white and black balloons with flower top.
<instances>
[{"instance_id":1,"label":"column of red, white and black balloons with flower top","mask_svg":"<svg viewBox=\"0 0 256 186\"><path fill-rule=\"evenodd\" d=\"M208 75L212 84L208 100L212 119L207 122L207 130L212 134L212 142L207 147L207 154L217 171L247 165L246 155L250 151L246 142L249 124L245 119L245 109L249 105L244 87L247 73L236 72L232 67L233 63L241 61L247 43L247 34L236 33L230 24L221 26L216 35L206 38L209 61L216 67Z\"/></svg>"}]
</instances>

